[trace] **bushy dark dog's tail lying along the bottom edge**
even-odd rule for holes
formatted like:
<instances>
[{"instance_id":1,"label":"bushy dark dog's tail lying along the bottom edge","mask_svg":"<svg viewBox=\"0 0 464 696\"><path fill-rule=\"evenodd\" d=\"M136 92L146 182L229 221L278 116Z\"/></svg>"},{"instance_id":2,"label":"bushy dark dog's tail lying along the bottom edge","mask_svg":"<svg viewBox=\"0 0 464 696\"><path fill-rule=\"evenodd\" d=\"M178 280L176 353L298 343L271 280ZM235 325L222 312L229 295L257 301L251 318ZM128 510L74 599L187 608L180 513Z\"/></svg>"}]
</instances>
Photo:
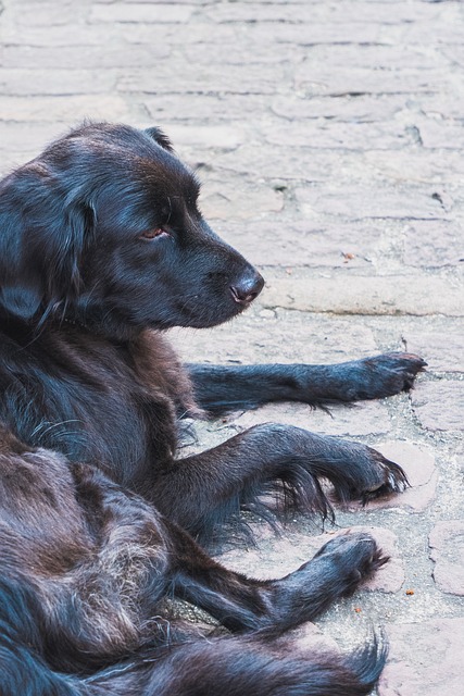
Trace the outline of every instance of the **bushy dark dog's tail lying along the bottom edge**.
<instances>
[{"instance_id":1,"label":"bushy dark dog's tail lying along the bottom edge","mask_svg":"<svg viewBox=\"0 0 464 696\"><path fill-rule=\"evenodd\" d=\"M86 680L93 694L127 696L366 696L384 668L386 644L349 656L296 655L253 637L201 639Z\"/></svg>"}]
</instances>

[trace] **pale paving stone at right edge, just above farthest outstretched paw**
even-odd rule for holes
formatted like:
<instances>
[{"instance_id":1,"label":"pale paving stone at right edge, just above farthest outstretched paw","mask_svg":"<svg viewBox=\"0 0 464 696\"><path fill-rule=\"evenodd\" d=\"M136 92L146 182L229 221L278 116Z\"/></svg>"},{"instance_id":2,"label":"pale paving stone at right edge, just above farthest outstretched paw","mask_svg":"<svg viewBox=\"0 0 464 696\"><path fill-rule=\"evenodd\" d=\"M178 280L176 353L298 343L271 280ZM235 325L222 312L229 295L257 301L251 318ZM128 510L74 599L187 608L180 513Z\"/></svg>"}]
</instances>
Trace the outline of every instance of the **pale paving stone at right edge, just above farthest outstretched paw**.
<instances>
[{"instance_id":1,"label":"pale paving stone at right edge, just above farthest outstretched paw","mask_svg":"<svg viewBox=\"0 0 464 696\"><path fill-rule=\"evenodd\" d=\"M407 350L424 356L430 372L464 372L464 333L409 331L403 334Z\"/></svg>"}]
</instances>

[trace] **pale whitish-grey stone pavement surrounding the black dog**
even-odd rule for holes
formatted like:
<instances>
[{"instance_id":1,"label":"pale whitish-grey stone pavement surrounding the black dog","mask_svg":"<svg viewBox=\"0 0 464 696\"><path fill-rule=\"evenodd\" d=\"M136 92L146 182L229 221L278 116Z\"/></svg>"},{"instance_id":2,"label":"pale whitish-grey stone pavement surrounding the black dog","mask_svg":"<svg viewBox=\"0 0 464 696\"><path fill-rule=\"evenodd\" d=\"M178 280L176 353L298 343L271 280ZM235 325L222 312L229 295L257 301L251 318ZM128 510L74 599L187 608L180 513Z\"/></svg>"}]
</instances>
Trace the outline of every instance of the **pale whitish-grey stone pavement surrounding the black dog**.
<instances>
[{"instance_id":1,"label":"pale whitish-grey stone pavement surrounding the black dog","mask_svg":"<svg viewBox=\"0 0 464 696\"><path fill-rule=\"evenodd\" d=\"M425 357L410 395L330 414L266 407L203 424L197 447L273 419L404 464L404 495L324 533L296 518L276 539L256 522L256 548L223 561L280 575L338 529L374 529L391 562L311 631L347 648L385 625L379 696L464 694L464 3L2 4L2 173L84 117L162 125L203 181L204 213L266 276L240 320L173 332L185 356Z\"/></svg>"}]
</instances>

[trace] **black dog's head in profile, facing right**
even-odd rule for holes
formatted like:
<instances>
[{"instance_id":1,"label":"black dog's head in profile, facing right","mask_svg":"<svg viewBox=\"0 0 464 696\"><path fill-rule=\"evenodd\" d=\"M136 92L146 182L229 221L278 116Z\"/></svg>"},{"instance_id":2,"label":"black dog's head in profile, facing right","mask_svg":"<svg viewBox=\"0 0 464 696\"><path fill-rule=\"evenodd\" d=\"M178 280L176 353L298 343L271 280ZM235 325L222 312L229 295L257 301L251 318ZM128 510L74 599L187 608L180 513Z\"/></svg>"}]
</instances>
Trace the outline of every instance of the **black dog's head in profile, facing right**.
<instances>
[{"instance_id":1,"label":"black dog's head in profile, facing right","mask_svg":"<svg viewBox=\"0 0 464 696\"><path fill-rule=\"evenodd\" d=\"M92 124L0 184L0 307L125 338L213 326L260 274L199 212L199 184L158 128Z\"/></svg>"}]
</instances>

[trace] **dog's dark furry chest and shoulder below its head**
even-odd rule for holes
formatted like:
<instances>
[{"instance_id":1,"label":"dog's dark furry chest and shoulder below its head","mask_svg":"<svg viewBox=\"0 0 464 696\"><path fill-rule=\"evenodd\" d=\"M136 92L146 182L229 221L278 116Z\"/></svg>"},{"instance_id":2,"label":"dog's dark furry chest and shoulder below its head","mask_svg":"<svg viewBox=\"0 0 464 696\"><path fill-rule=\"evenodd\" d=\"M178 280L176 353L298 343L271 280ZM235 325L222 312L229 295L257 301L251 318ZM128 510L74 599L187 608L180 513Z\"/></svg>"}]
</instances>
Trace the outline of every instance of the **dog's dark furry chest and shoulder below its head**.
<instances>
[{"instance_id":1,"label":"dog's dark furry chest and shoulder below its head","mask_svg":"<svg viewBox=\"0 0 464 696\"><path fill-rule=\"evenodd\" d=\"M172 456L172 400L141 384L125 347L75 336L5 346L1 419L27 444L93 463L130 487Z\"/></svg>"}]
</instances>

